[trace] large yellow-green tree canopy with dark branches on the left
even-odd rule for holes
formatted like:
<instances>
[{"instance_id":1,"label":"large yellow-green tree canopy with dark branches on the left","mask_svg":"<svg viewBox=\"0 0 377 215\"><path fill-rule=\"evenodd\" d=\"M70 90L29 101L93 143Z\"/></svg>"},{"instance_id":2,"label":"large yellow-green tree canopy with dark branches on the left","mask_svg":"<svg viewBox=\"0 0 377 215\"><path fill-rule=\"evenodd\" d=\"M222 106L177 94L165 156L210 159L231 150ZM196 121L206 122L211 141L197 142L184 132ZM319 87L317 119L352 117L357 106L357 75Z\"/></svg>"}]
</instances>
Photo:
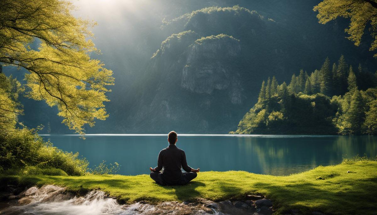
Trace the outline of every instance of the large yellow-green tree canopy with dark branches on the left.
<instances>
[{"instance_id":1,"label":"large yellow-green tree canopy with dark branches on the left","mask_svg":"<svg viewBox=\"0 0 377 215\"><path fill-rule=\"evenodd\" d=\"M106 119L106 86L114 79L89 56L99 53L87 39L95 23L75 18L72 9L63 0L0 1L0 67L28 70L26 95L57 106L63 123L83 134L85 124ZM37 50L30 48L32 42L40 42Z\"/></svg>"}]
</instances>

